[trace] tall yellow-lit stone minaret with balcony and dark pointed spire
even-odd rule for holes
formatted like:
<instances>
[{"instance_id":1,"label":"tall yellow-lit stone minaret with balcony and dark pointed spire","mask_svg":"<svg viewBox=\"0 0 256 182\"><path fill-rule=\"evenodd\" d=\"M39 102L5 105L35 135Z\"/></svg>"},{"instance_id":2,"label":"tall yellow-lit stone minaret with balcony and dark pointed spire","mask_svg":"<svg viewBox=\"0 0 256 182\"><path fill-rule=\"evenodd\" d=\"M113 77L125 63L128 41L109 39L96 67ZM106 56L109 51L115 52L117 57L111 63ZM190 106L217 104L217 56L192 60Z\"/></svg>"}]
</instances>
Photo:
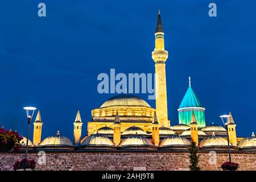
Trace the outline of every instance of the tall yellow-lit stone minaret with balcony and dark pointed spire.
<instances>
[{"instance_id":1,"label":"tall yellow-lit stone minaret with balcony and dark pointed spire","mask_svg":"<svg viewBox=\"0 0 256 182\"><path fill-rule=\"evenodd\" d=\"M164 32L158 11L158 22L155 30L155 49L152 52L152 59L155 61L155 93L156 93L156 114L161 126L170 127L167 115L167 91L166 91L166 60L168 52L164 50Z\"/></svg>"}]
</instances>

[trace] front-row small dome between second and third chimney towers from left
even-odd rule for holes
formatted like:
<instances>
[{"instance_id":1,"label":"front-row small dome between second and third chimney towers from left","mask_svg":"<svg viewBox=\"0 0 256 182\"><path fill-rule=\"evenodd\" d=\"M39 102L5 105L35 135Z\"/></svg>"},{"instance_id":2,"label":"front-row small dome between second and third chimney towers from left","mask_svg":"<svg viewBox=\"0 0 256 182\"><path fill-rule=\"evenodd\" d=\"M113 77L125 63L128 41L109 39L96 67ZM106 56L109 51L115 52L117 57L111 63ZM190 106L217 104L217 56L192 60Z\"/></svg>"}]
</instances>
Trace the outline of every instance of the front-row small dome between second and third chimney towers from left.
<instances>
[{"instance_id":1,"label":"front-row small dome between second and third chimney towers from left","mask_svg":"<svg viewBox=\"0 0 256 182\"><path fill-rule=\"evenodd\" d=\"M106 145L113 146L112 140L101 134L92 134L82 142L82 145Z\"/></svg>"}]
</instances>

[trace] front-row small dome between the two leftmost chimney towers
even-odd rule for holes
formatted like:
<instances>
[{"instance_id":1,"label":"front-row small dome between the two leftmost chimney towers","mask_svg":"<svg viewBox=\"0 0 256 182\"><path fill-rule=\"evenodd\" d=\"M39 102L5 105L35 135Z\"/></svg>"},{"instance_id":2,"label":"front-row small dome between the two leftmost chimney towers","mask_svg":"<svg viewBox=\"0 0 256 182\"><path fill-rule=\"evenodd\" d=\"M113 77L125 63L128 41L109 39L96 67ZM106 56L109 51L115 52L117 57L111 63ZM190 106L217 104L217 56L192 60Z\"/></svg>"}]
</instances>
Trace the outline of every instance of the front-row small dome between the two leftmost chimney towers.
<instances>
[{"instance_id":1,"label":"front-row small dome between the two leftmost chimney towers","mask_svg":"<svg viewBox=\"0 0 256 182\"><path fill-rule=\"evenodd\" d=\"M41 143L40 146L72 146L71 140L63 135L60 135L60 132L57 131L57 134L52 137L45 138Z\"/></svg>"}]
</instances>

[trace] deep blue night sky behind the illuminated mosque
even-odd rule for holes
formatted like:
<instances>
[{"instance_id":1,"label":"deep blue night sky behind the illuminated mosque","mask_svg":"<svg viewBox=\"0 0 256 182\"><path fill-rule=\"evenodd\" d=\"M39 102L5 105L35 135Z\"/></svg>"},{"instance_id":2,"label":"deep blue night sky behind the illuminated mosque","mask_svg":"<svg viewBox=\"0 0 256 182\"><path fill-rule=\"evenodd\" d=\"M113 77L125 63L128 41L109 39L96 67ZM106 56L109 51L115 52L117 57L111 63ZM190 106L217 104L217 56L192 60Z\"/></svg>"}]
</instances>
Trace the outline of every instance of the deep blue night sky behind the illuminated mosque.
<instances>
[{"instance_id":1,"label":"deep blue night sky behind the illuminated mosque","mask_svg":"<svg viewBox=\"0 0 256 182\"><path fill-rule=\"evenodd\" d=\"M39 2L46 3L46 18L38 16ZM217 17L208 16L210 2L217 3ZM3 1L0 125L25 135L23 107L31 105L42 114L42 139L60 130L73 140L79 109L85 135L91 110L114 96L97 92L99 73L110 68L154 73L151 51L159 7L169 52L171 125L178 123L177 108L191 76L207 109L207 124L222 125L218 116L232 111L237 135L251 135L256 131L256 1L241 0ZM155 107L147 94L139 96Z\"/></svg>"}]
</instances>

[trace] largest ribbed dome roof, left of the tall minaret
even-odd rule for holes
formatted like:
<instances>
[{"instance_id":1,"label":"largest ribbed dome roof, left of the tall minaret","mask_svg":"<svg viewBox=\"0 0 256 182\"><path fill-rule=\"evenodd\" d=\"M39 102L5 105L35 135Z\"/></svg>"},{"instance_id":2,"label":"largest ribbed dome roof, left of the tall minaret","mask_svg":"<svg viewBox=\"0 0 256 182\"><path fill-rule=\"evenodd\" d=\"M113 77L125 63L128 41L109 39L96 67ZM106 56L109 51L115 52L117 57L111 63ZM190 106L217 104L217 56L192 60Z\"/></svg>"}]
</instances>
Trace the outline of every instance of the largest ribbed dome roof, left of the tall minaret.
<instances>
[{"instance_id":1,"label":"largest ribbed dome roof, left of the tall minaret","mask_svg":"<svg viewBox=\"0 0 256 182\"><path fill-rule=\"evenodd\" d=\"M142 100L137 96L133 96L130 94L120 94L118 96L110 98L108 101L104 102L100 108L102 107L110 107L110 106L146 106L150 107L146 101Z\"/></svg>"}]
</instances>

